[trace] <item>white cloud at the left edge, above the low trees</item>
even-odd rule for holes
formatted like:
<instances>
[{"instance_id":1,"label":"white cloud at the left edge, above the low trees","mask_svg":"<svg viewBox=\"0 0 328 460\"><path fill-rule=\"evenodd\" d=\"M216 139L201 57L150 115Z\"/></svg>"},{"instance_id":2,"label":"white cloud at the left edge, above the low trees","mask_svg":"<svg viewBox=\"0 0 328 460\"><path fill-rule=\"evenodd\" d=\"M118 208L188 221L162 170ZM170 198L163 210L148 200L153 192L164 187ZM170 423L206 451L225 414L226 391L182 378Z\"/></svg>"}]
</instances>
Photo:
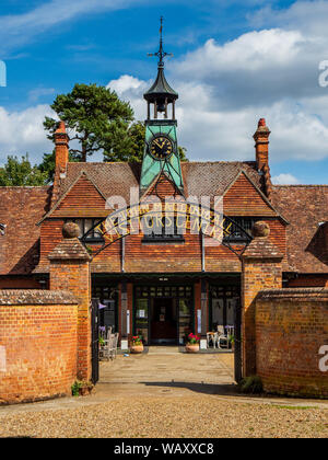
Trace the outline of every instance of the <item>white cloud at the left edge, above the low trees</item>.
<instances>
[{"instance_id":1,"label":"white cloud at the left edge, above the low trees","mask_svg":"<svg viewBox=\"0 0 328 460\"><path fill-rule=\"evenodd\" d=\"M26 152L33 164L39 163L43 153L52 151L54 145L43 127L46 115L54 116L48 105L12 113L0 107L0 164L5 163L9 154L21 157Z\"/></svg>"}]
</instances>

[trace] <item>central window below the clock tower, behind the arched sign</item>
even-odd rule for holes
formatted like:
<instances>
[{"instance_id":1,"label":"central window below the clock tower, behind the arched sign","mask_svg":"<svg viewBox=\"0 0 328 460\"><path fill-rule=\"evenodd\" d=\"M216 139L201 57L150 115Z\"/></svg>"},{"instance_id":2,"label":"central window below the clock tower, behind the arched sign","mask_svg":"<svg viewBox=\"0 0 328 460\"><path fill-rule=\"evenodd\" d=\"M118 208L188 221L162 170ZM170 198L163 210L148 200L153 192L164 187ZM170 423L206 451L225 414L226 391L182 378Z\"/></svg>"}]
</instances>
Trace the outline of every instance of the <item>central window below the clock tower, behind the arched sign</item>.
<instances>
[{"instance_id":1,"label":"central window below the clock tower, behind the arched sign","mask_svg":"<svg viewBox=\"0 0 328 460\"><path fill-rule=\"evenodd\" d=\"M143 222L142 242L184 242L184 235L177 226L177 217L150 217Z\"/></svg>"}]
</instances>

